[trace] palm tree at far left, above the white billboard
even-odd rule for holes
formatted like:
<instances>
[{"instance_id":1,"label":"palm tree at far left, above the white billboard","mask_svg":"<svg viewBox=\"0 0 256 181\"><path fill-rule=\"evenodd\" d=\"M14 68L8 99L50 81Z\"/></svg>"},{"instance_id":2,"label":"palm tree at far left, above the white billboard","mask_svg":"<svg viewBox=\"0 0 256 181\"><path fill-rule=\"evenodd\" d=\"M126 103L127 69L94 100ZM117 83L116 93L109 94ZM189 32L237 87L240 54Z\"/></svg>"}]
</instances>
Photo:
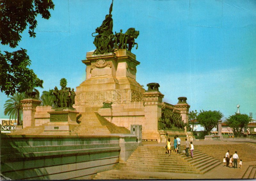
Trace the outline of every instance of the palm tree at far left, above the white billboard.
<instances>
[{"instance_id":1,"label":"palm tree at far left, above the white billboard","mask_svg":"<svg viewBox=\"0 0 256 181\"><path fill-rule=\"evenodd\" d=\"M24 99L24 93L16 93L13 96L8 96L7 101L4 104L4 115L10 116L10 119L18 120L18 125L20 125L22 116L22 103L21 100Z\"/></svg>"}]
</instances>

